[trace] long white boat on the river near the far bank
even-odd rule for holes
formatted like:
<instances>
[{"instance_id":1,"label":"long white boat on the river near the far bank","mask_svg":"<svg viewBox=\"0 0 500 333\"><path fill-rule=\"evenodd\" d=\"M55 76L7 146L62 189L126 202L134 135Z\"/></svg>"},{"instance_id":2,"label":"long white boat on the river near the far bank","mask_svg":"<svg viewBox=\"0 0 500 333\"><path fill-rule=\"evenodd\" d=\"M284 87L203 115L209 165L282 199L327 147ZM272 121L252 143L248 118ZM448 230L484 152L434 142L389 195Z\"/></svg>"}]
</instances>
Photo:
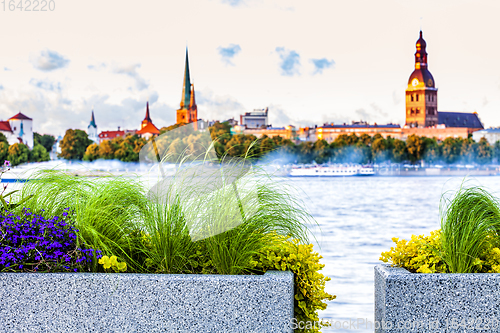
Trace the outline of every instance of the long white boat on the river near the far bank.
<instances>
[{"instance_id":1,"label":"long white boat on the river near the far bank","mask_svg":"<svg viewBox=\"0 0 500 333\"><path fill-rule=\"evenodd\" d=\"M372 167L351 164L293 166L289 172L291 177L351 177L374 174Z\"/></svg>"}]
</instances>

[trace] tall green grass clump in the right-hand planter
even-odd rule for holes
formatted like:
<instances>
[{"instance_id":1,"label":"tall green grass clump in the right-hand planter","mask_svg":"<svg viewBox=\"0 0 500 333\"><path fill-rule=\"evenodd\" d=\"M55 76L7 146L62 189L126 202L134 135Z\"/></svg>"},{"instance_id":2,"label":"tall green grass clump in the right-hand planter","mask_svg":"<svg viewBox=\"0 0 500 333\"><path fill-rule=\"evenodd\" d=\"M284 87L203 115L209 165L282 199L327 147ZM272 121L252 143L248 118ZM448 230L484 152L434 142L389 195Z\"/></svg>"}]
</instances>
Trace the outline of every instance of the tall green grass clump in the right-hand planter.
<instances>
[{"instance_id":1,"label":"tall green grass clump in the right-hand planter","mask_svg":"<svg viewBox=\"0 0 500 333\"><path fill-rule=\"evenodd\" d=\"M451 273L472 273L474 262L489 242L498 246L500 209L498 201L479 187L463 188L452 199L443 199L441 256Z\"/></svg>"}]
</instances>

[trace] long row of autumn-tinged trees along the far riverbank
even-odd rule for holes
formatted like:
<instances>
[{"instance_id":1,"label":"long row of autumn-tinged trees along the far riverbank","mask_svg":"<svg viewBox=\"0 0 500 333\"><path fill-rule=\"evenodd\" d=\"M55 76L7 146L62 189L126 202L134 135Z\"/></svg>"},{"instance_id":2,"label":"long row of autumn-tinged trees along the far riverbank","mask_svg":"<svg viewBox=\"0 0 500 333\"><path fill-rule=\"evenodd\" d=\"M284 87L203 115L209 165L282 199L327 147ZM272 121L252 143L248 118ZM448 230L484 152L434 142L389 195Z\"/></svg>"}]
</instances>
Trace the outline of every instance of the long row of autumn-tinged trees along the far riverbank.
<instances>
[{"instance_id":1,"label":"long row of autumn-tinged trees along the far riverbank","mask_svg":"<svg viewBox=\"0 0 500 333\"><path fill-rule=\"evenodd\" d=\"M486 139L475 142L472 138L446 138L438 141L436 138L409 136L406 141L384 138L380 134L369 136L362 134L343 134L333 142L325 140L316 142L300 142L296 144L290 139L280 136L263 136L257 139L254 135L232 134L228 123L216 122L206 134L182 132L178 125L163 127L160 134L175 133L171 136L161 136L158 145L162 149L180 152L190 144L206 140L210 134L214 148L219 157L224 155L254 159L264 157L279 158L284 156L294 163L478 163L488 164L493 158L500 157L500 141L490 145ZM186 126L187 128L187 126ZM172 131L172 132L170 132ZM163 141L162 141L163 140ZM210 138L208 138L210 140ZM138 162L139 152L148 142L137 135L117 137L112 140L93 143L82 130L68 130L61 142L60 157L93 161L96 159L118 159L123 162ZM276 155L269 155L274 153Z\"/></svg>"}]
</instances>

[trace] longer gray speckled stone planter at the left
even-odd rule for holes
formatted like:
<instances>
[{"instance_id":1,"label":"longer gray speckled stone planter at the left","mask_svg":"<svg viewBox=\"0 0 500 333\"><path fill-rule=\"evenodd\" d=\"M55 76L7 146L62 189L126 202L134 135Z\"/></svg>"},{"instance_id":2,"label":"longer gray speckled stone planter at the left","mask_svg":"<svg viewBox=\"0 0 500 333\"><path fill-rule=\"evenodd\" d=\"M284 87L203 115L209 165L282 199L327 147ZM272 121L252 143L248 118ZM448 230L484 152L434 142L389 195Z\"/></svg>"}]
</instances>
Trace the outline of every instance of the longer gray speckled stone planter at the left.
<instances>
[{"instance_id":1,"label":"longer gray speckled stone planter at the left","mask_svg":"<svg viewBox=\"0 0 500 333\"><path fill-rule=\"evenodd\" d=\"M291 332L293 273L1 273L1 332Z\"/></svg>"}]
</instances>

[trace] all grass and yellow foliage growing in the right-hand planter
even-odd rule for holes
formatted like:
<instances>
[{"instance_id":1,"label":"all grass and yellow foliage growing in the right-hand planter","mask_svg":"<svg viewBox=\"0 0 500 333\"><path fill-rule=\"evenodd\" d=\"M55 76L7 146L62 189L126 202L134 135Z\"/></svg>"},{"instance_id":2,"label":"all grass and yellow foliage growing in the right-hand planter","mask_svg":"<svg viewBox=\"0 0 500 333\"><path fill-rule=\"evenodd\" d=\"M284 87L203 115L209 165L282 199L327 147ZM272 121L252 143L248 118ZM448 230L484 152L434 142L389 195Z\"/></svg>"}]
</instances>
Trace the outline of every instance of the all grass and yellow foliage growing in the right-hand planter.
<instances>
[{"instance_id":1,"label":"all grass and yellow foliage growing in the right-hand planter","mask_svg":"<svg viewBox=\"0 0 500 333\"><path fill-rule=\"evenodd\" d=\"M393 238L380 260L417 273L500 272L500 209L478 187L461 187L440 205L441 230L430 236Z\"/></svg>"}]
</instances>

